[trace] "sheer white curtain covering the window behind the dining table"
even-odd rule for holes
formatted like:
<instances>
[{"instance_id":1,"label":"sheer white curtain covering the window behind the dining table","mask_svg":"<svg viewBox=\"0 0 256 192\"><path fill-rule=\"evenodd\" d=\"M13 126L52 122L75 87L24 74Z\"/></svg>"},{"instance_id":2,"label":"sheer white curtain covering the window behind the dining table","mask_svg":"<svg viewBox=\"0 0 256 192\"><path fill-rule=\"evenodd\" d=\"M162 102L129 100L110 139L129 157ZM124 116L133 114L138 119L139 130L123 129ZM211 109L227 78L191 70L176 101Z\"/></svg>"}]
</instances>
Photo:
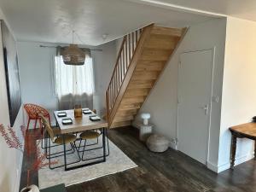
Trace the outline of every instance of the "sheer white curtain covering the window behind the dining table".
<instances>
[{"instance_id":1,"label":"sheer white curtain covering the window behind the dining table","mask_svg":"<svg viewBox=\"0 0 256 192\"><path fill-rule=\"evenodd\" d=\"M55 56L55 91L59 109L71 109L75 105L93 108L95 90L92 58L86 55L83 66L65 65L62 56Z\"/></svg>"}]
</instances>

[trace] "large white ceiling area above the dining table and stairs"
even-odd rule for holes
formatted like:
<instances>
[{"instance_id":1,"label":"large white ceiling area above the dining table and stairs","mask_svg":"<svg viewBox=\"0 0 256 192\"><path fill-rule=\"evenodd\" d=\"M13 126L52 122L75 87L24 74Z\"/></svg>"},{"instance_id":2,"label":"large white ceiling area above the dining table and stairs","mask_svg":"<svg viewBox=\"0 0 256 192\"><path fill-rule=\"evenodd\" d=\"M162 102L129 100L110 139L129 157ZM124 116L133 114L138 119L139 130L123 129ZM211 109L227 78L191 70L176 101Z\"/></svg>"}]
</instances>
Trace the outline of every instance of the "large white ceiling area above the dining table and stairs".
<instances>
[{"instance_id":1,"label":"large white ceiling area above the dining table and stairs","mask_svg":"<svg viewBox=\"0 0 256 192\"><path fill-rule=\"evenodd\" d=\"M72 30L80 38L74 43L99 45L152 22L176 27L211 19L127 0L0 0L0 8L19 41L64 44Z\"/></svg>"}]
</instances>

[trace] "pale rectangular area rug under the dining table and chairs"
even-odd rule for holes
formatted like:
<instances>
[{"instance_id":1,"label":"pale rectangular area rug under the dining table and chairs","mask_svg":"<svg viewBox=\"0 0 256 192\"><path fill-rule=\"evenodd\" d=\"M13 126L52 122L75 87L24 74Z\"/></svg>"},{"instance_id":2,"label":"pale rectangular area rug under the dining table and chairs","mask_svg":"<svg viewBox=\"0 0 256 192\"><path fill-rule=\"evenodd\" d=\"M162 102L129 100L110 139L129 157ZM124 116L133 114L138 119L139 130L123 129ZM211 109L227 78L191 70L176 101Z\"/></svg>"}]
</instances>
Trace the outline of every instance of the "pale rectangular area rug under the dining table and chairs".
<instances>
[{"instance_id":1,"label":"pale rectangular area rug under the dining table and chairs","mask_svg":"<svg viewBox=\"0 0 256 192\"><path fill-rule=\"evenodd\" d=\"M115 144L109 141L109 155L107 157L106 162L99 163L92 166L85 166L79 169L64 171L64 167L55 168L53 170L49 169L49 166L44 167L38 171L38 185L39 189L48 188L50 186L54 186L56 184L65 183L65 186L73 185L76 183L83 183L86 181L90 181L97 177L103 177L110 174L114 174L116 172L124 172L125 170L136 167L137 165L126 156ZM40 141L38 141L39 143ZM44 143L44 142L43 142ZM96 143L96 140L90 141L90 143ZM87 143L87 144L90 144ZM107 142L106 142L107 143ZM84 144L84 143L81 143ZM79 141L77 142L77 146L79 146ZM98 144L93 145L93 148L96 146L102 146L102 138L100 137L98 140ZM92 146L90 146L92 147ZM87 147L90 148L90 147ZM61 151L63 147L57 146L55 148L51 148L51 153L55 153L57 151ZM67 146L67 150L71 149L71 146ZM82 148L80 148L82 149ZM43 149L42 153L43 153ZM108 150L107 150L108 153ZM81 154L81 153L80 153ZM84 155L86 155L86 159L90 159L91 157L98 157L102 155L102 148L87 151ZM77 153L67 154L67 163L74 162L79 160L79 156ZM64 158L63 156L55 158L55 163L52 166L63 165ZM85 161L86 163L91 162ZM84 161L73 164L71 166L78 166L80 164L84 164Z\"/></svg>"}]
</instances>

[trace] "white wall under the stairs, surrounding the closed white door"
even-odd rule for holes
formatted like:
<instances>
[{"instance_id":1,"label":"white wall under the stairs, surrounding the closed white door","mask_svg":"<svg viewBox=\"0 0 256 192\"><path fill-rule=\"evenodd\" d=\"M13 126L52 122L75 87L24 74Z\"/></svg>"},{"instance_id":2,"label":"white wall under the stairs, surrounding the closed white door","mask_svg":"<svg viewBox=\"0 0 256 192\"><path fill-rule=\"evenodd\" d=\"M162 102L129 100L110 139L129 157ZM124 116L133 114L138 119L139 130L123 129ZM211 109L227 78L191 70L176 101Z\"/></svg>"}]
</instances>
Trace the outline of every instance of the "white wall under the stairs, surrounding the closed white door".
<instances>
[{"instance_id":1,"label":"white wall under the stairs, surrounding the closed white door","mask_svg":"<svg viewBox=\"0 0 256 192\"><path fill-rule=\"evenodd\" d=\"M219 102L212 103L210 144L208 167L217 172L218 169L218 136L220 126L220 109L222 94L222 79L224 67L226 19L214 19L190 26L176 53L162 73L158 83L152 90L148 100L144 103L140 113L152 114L151 122L155 125L154 131L167 138L177 138L177 67L179 55L184 51L213 49L214 74L213 96L219 97ZM139 117L137 116L137 119Z\"/></svg>"}]
</instances>

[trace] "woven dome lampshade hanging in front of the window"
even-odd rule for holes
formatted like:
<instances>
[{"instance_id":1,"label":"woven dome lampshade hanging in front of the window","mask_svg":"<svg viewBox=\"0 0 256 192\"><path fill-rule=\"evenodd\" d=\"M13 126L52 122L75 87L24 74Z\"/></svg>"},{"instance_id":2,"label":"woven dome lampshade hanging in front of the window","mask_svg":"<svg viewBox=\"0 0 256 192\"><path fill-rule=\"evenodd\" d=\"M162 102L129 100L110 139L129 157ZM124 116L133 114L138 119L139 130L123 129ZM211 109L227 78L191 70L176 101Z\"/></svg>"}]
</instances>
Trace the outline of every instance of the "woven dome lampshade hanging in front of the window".
<instances>
[{"instance_id":1,"label":"woven dome lampshade hanging in front of the window","mask_svg":"<svg viewBox=\"0 0 256 192\"><path fill-rule=\"evenodd\" d=\"M70 44L63 50L62 58L66 65L81 66L84 65L85 54L77 44Z\"/></svg>"}]
</instances>

